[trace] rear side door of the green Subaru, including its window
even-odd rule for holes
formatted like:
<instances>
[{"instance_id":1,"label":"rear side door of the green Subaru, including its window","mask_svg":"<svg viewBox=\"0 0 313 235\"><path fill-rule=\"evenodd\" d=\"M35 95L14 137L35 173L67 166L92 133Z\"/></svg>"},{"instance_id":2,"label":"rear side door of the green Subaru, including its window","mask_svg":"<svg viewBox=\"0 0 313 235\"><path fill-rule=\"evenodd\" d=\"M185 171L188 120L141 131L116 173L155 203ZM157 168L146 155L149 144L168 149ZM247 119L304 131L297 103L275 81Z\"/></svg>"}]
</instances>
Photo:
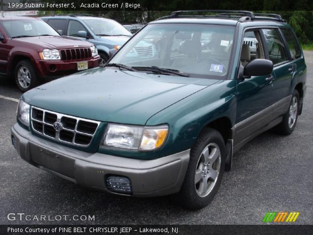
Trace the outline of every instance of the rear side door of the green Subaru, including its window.
<instances>
[{"instance_id":1,"label":"rear side door of the green Subaru, including its window","mask_svg":"<svg viewBox=\"0 0 313 235\"><path fill-rule=\"evenodd\" d=\"M274 93L272 119L286 113L291 94L291 79L294 74L294 64L287 50L284 38L279 28L262 29L266 41L268 59L273 62Z\"/></svg>"}]
</instances>

